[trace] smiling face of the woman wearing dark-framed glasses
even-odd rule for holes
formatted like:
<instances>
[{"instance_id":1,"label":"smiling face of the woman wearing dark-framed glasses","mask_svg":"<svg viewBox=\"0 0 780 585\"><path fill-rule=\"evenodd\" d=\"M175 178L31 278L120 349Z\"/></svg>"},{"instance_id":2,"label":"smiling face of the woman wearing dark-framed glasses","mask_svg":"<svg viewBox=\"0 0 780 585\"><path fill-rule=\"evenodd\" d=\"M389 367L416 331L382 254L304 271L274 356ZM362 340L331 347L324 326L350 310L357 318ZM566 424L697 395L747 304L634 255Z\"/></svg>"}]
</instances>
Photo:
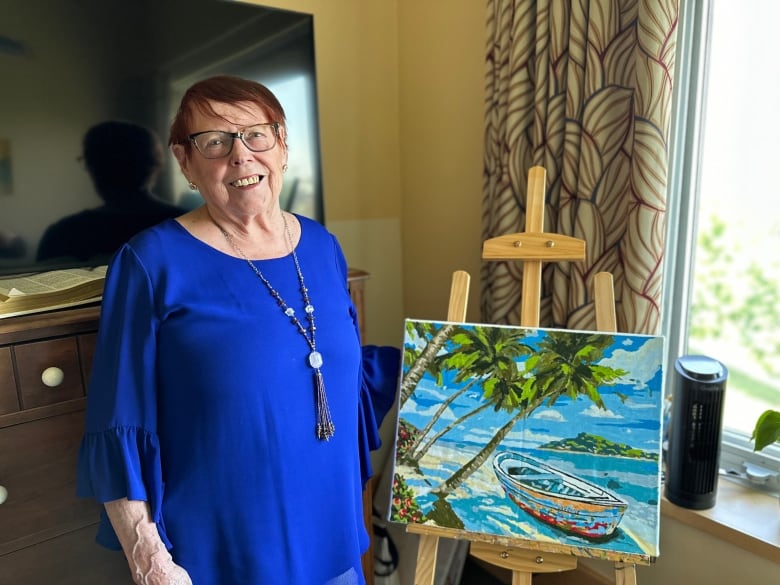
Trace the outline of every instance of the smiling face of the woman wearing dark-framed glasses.
<instances>
[{"instance_id":1,"label":"smiling face of the woman wearing dark-framed glasses","mask_svg":"<svg viewBox=\"0 0 780 585\"><path fill-rule=\"evenodd\" d=\"M263 110L249 102L224 104L211 102L217 116L194 112L190 134L206 130L240 132L248 126L275 122ZM173 147L184 176L198 187L210 207L217 207L233 217L248 217L278 208L282 190L283 166L287 162L284 147L284 128L271 150L253 152L240 140L233 140L233 148L225 157L206 158L192 145L185 154L183 145Z\"/></svg>"}]
</instances>

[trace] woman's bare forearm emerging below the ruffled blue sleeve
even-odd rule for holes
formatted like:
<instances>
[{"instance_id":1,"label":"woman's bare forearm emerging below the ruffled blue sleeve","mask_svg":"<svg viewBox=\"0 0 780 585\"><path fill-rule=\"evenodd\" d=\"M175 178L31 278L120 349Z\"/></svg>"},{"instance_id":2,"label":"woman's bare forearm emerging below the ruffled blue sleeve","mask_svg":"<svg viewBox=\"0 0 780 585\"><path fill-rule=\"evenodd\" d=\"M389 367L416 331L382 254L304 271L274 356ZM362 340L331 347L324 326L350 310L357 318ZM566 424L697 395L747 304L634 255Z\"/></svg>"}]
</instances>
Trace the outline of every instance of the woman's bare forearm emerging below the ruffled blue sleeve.
<instances>
[{"instance_id":1,"label":"woman's bare forearm emerging below the ruffled blue sleeve","mask_svg":"<svg viewBox=\"0 0 780 585\"><path fill-rule=\"evenodd\" d=\"M192 584L165 548L146 502L122 498L105 507L137 585Z\"/></svg>"}]
</instances>

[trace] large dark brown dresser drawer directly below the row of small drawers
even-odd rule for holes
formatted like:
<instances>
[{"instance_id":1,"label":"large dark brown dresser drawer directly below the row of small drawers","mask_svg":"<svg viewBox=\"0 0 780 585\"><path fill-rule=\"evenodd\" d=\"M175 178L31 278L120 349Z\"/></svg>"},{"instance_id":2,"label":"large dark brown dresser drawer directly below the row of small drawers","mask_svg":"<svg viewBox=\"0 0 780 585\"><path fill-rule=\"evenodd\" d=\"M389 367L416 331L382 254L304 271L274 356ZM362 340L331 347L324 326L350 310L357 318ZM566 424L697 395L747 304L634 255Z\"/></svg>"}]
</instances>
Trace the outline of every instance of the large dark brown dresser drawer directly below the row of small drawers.
<instances>
[{"instance_id":1,"label":"large dark brown dresser drawer directly below the row of small drawers","mask_svg":"<svg viewBox=\"0 0 780 585\"><path fill-rule=\"evenodd\" d=\"M98 521L99 504L76 497L83 432L83 410L0 428L0 558Z\"/></svg>"}]
</instances>

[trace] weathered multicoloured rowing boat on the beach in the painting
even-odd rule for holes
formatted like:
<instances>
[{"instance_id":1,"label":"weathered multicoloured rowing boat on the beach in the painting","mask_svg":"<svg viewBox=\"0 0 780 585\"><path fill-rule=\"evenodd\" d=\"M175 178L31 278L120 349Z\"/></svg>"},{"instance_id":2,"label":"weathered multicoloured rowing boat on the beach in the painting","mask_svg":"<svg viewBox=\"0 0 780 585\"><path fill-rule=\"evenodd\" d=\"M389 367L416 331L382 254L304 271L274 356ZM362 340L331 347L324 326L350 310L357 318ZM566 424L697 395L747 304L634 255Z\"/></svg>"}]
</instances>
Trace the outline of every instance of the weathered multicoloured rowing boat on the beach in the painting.
<instances>
[{"instance_id":1,"label":"weathered multicoloured rowing boat on the beach in the painting","mask_svg":"<svg viewBox=\"0 0 780 585\"><path fill-rule=\"evenodd\" d=\"M628 507L612 492L527 455L499 453L493 471L520 509L568 534L609 538Z\"/></svg>"}]
</instances>

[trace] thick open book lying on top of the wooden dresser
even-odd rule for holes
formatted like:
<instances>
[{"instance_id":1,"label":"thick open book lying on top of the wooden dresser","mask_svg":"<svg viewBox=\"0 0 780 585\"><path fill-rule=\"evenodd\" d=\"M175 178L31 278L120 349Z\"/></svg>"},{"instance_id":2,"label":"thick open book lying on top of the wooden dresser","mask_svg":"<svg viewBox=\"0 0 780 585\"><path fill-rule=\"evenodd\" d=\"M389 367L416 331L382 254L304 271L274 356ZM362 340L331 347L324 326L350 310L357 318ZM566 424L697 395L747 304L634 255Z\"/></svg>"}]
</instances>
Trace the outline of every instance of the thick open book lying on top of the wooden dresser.
<instances>
[{"instance_id":1,"label":"thick open book lying on top of the wooden dresser","mask_svg":"<svg viewBox=\"0 0 780 585\"><path fill-rule=\"evenodd\" d=\"M106 269L72 268L0 279L0 318L98 301Z\"/></svg>"}]
</instances>

